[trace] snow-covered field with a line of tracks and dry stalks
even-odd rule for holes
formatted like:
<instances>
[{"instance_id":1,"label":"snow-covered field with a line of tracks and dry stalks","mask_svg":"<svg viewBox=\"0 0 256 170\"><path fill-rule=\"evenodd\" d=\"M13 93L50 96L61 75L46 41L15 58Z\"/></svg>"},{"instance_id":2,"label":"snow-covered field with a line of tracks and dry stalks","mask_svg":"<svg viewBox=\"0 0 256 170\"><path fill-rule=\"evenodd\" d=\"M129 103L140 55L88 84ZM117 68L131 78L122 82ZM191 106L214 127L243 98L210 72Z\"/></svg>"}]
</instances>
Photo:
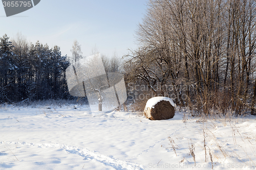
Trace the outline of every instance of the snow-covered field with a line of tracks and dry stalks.
<instances>
[{"instance_id":1,"label":"snow-covered field with a line of tracks and dry stalks","mask_svg":"<svg viewBox=\"0 0 256 170\"><path fill-rule=\"evenodd\" d=\"M256 169L255 116L188 115L2 106L0 169Z\"/></svg>"}]
</instances>

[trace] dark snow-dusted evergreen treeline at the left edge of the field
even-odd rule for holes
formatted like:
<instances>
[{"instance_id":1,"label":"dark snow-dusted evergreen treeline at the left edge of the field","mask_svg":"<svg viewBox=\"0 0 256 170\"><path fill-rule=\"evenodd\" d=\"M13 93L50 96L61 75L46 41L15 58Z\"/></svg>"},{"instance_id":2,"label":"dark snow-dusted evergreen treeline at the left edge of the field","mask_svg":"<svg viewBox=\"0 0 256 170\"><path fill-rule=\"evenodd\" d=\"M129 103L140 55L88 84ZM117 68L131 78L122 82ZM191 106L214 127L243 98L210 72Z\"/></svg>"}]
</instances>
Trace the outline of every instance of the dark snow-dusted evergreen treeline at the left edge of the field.
<instances>
[{"instance_id":1,"label":"dark snow-dusted evergreen treeline at the left edge of the field","mask_svg":"<svg viewBox=\"0 0 256 170\"><path fill-rule=\"evenodd\" d=\"M70 62L60 47L28 44L17 34L0 38L0 103L70 99L65 70Z\"/></svg>"}]
</instances>

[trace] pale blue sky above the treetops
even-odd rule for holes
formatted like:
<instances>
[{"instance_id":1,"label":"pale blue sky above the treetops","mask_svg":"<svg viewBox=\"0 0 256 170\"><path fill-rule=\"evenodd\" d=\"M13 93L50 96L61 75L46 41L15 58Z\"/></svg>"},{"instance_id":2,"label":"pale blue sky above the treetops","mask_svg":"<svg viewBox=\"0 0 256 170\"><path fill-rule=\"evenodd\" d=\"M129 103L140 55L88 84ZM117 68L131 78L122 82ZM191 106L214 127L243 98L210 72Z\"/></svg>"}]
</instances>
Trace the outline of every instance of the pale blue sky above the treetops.
<instances>
[{"instance_id":1,"label":"pale blue sky above the treetops","mask_svg":"<svg viewBox=\"0 0 256 170\"><path fill-rule=\"evenodd\" d=\"M41 0L23 13L6 17L0 5L0 36L22 33L29 42L39 40L50 47L60 46L62 55L72 56L73 41L81 44L83 56L96 45L101 54L121 57L135 49L138 23L146 10L146 0Z\"/></svg>"}]
</instances>

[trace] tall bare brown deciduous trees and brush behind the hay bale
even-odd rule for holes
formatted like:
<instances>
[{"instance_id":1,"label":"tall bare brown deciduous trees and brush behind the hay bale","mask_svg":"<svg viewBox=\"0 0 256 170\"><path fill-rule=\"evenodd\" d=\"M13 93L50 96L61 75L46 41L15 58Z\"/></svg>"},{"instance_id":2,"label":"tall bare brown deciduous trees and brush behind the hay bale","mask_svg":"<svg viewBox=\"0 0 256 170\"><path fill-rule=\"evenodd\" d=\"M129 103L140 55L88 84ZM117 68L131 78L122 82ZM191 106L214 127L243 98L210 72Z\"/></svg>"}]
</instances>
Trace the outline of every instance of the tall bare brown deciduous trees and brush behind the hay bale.
<instances>
[{"instance_id":1,"label":"tall bare brown deciduous trees and brush behind the hay bale","mask_svg":"<svg viewBox=\"0 0 256 170\"><path fill-rule=\"evenodd\" d=\"M254 0L150 0L139 47L125 56L126 81L175 93L190 110L255 114L255 7Z\"/></svg>"}]
</instances>

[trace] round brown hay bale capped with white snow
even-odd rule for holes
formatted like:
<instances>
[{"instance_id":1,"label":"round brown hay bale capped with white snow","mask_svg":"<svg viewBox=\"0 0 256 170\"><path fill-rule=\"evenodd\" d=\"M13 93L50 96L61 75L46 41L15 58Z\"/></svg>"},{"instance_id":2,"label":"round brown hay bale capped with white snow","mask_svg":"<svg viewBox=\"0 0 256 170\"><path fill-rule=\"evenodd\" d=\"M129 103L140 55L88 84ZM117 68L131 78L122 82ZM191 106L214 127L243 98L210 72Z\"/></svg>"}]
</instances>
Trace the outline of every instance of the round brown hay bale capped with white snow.
<instances>
[{"instance_id":1,"label":"round brown hay bale capped with white snow","mask_svg":"<svg viewBox=\"0 0 256 170\"><path fill-rule=\"evenodd\" d=\"M174 117L175 104L166 97L151 98L146 102L144 115L151 120L162 120Z\"/></svg>"}]
</instances>

